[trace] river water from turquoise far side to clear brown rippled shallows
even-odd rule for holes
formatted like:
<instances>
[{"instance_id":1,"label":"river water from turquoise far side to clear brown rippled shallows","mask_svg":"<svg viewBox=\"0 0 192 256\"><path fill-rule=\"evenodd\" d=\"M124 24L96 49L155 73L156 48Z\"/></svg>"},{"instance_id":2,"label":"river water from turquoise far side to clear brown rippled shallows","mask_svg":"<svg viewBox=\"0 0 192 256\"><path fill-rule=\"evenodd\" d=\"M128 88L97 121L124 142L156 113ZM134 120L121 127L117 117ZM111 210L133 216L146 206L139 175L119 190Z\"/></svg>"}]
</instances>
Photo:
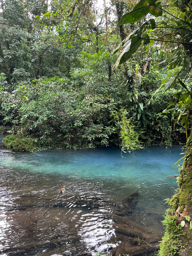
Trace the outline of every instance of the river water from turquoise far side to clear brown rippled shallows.
<instances>
[{"instance_id":1,"label":"river water from turquoise far side to clear brown rippled shallows","mask_svg":"<svg viewBox=\"0 0 192 256\"><path fill-rule=\"evenodd\" d=\"M121 241L113 210L103 202L120 202L138 190L130 219L162 235L163 200L177 188L175 178L165 177L177 175L172 174L176 168L170 169L180 159L180 148L151 146L122 158L118 148L16 153L1 145L2 254L17 248L23 255L74 255L77 248L94 252L116 247ZM56 198L63 184L66 193L49 209L48 199ZM91 204L95 195L100 199ZM84 199L85 204L77 203Z\"/></svg>"}]
</instances>

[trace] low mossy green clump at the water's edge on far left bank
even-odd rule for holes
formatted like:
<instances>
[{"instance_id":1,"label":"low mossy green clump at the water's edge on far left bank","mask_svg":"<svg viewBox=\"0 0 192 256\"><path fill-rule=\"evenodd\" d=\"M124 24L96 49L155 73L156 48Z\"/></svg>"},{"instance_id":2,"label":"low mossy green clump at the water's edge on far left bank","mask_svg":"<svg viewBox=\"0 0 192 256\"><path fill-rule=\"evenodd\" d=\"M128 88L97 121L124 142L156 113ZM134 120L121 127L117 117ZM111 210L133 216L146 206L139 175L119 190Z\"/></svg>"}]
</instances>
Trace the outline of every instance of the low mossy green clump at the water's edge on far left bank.
<instances>
[{"instance_id":1,"label":"low mossy green clump at the water's edge on far left bank","mask_svg":"<svg viewBox=\"0 0 192 256\"><path fill-rule=\"evenodd\" d=\"M15 151L34 151L38 150L37 140L21 137L19 135L8 135L3 139L3 143L9 149Z\"/></svg>"}]
</instances>

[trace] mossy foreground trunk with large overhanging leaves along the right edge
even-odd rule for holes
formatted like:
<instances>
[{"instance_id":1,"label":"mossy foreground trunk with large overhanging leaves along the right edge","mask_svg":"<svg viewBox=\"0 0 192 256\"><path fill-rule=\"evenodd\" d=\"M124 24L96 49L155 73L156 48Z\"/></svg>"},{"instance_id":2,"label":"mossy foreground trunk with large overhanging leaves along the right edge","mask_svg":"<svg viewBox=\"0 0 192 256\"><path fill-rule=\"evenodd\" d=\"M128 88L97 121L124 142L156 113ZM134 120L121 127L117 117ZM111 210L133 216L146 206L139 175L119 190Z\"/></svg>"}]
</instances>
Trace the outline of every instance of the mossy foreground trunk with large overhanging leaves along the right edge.
<instances>
[{"instance_id":1,"label":"mossy foreground trunk with large overhanging leaves along the right edge","mask_svg":"<svg viewBox=\"0 0 192 256\"><path fill-rule=\"evenodd\" d=\"M151 8L148 8L151 6ZM155 9L156 16L162 16L162 11L168 14L168 17L162 17L158 23L155 20L149 20L143 23L134 33L131 33L128 38L124 39L117 47L114 53L120 50L120 55L117 59L113 70L116 71L119 64L125 62L132 57L132 54L137 51L142 44L151 44L151 42L158 41L164 42L170 48L172 53L164 61L168 70L170 70L166 78L162 80L159 88L154 92L156 95L161 89L164 91L170 91L174 88L176 92L173 93L174 102L170 102L169 106L162 112L168 113L176 111L177 115L174 122L175 124L181 119L181 123L185 123L186 137L188 137L188 124L191 117L191 54L192 54L192 25L191 25L191 1L172 1L171 8L164 10L160 3L156 1L140 1L132 11L124 14L122 19L117 25L123 25L125 23L134 22L139 20L144 15L151 13L151 10ZM160 12L161 10L161 12ZM134 15L133 15L134 12ZM155 16L155 15L154 15ZM158 28L159 31L156 30ZM169 34L163 34L161 31L169 31ZM145 32L145 33L143 33ZM165 32L164 32L165 33ZM151 38L152 37L152 38ZM171 107L171 108L170 108ZM191 127L190 127L191 128ZM172 197L168 199L171 209L167 212L164 225L166 226L165 235L160 243L160 251L158 255L178 255L181 249L185 247L182 243L182 235L180 230L185 226L185 221L182 217L190 222L191 216L191 200L192 200L192 133L187 139L184 163L179 166L180 176L178 177L178 191ZM184 214L184 215L183 215ZM186 215L189 214L189 215ZM180 224L181 223L181 224ZM191 228L191 222L190 222ZM187 246L189 239L184 239ZM187 242L187 243L186 243ZM182 254L182 253L181 253Z\"/></svg>"}]
</instances>

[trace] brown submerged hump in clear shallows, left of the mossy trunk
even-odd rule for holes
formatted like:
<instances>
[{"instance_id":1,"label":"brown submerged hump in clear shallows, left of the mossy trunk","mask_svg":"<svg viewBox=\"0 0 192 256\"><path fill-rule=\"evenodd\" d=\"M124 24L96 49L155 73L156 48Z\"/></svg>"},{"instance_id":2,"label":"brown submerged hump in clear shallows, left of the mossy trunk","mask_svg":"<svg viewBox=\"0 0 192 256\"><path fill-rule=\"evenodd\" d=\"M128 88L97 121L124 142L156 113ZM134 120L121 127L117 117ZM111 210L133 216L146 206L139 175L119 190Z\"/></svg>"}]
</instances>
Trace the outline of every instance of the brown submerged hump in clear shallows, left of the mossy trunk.
<instances>
[{"instance_id":1,"label":"brown submerged hump in clear shallows, left of the mossy trunk","mask_svg":"<svg viewBox=\"0 0 192 256\"><path fill-rule=\"evenodd\" d=\"M161 235L151 234L151 232L142 225L138 218L135 221L133 210L137 206L138 191L130 194L116 203L113 208L113 227L116 233L116 239L119 245L111 250L112 256L132 255L144 256L147 253L153 253L158 250L158 241ZM121 208L120 208L121 207Z\"/></svg>"}]
</instances>

